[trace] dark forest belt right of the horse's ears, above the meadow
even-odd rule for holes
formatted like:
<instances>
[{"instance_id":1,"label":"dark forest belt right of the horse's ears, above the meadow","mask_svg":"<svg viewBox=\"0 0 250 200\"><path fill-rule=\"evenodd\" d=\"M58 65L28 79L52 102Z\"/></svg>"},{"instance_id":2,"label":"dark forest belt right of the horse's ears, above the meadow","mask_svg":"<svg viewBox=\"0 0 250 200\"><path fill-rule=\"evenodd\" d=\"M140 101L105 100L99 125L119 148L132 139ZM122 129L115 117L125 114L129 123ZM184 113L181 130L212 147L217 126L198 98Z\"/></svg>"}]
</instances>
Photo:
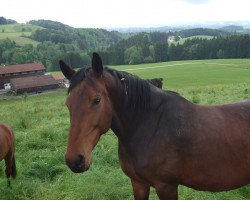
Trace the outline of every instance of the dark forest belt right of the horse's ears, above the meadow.
<instances>
[{"instance_id":1,"label":"dark forest belt right of the horse's ears, above the meadow","mask_svg":"<svg viewBox=\"0 0 250 200\"><path fill-rule=\"evenodd\" d=\"M155 40L154 36L157 35ZM250 36L228 35L213 39L192 38L170 44L166 35L140 33L101 52L108 64L139 64L174 60L250 58ZM165 39L164 39L165 38Z\"/></svg>"}]
</instances>

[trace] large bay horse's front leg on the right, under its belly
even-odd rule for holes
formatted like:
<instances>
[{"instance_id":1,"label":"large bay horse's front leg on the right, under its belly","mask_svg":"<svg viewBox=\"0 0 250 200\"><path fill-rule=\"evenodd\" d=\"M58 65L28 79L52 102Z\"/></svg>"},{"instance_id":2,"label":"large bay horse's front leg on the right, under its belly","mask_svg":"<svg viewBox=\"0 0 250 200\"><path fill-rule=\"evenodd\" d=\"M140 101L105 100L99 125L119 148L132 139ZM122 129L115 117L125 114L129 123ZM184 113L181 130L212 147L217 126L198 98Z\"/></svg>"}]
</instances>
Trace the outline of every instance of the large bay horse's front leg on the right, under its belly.
<instances>
[{"instance_id":1,"label":"large bay horse's front leg on the right, under its belly","mask_svg":"<svg viewBox=\"0 0 250 200\"><path fill-rule=\"evenodd\" d=\"M164 185L155 189L160 200L178 200L177 185Z\"/></svg>"}]
</instances>

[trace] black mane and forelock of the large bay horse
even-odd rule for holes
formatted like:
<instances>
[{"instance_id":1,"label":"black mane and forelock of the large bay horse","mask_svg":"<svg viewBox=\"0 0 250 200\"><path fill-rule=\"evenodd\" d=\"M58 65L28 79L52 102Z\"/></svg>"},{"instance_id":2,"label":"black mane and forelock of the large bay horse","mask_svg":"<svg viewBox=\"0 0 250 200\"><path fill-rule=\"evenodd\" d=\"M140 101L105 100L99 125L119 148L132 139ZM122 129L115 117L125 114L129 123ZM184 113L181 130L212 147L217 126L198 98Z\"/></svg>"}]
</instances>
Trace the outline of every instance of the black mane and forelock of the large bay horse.
<instances>
[{"instance_id":1,"label":"black mane and forelock of the large bay horse","mask_svg":"<svg viewBox=\"0 0 250 200\"><path fill-rule=\"evenodd\" d=\"M70 80L70 87L68 92L75 88L83 80L91 80L90 67L81 68L78 70ZM108 67L104 68L104 73L110 73L123 90L124 100L126 104L132 108L149 108L150 107L150 84L148 81L140 79L138 76L129 74L124 71L117 71ZM119 84L120 83L120 84Z\"/></svg>"}]
</instances>

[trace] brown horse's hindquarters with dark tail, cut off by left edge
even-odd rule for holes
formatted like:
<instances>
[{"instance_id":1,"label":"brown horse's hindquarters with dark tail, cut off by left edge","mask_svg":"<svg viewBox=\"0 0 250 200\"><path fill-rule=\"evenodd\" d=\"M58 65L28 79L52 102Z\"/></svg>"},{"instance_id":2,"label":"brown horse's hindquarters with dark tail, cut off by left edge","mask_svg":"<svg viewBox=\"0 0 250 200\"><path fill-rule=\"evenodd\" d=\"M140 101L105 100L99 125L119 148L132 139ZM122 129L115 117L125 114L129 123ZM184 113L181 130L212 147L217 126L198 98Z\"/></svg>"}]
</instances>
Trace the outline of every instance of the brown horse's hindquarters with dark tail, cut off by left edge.
<instances>
[{"instance_id":1,"label":"brown horse's hindquarters with dark tail, cut off by left edge","mask_svg":"<svg viewBox=\"0 0 250 200\"><path fill-rule=\"evenodd\" d=\"M16 163L15 163L15 137L10 127L0 123L0 161L5 160L5 174L7 177L7 184L10 186L10 176L16 177Z\"/></svg>"}]
</instances>

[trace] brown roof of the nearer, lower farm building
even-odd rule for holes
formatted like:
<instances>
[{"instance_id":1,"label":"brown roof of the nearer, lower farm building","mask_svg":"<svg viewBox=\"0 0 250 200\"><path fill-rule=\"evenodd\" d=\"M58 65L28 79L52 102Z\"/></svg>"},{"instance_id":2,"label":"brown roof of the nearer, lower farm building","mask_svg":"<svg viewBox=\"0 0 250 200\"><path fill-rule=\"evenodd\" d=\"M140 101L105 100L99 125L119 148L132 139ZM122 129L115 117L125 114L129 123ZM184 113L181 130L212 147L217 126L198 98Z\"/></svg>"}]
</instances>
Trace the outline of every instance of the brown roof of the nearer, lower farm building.
<instances>
[{"instance_id":1,"label":"brown roof of the nearer, lower farm building","mask_svg":"<svg viewBox=\"0 0 250 200\"><path fill-rule=\"evenodd\" d=\"M51 75L28 76L10 79L15 90L25 88L35 88L48 85L57 85L57 81Z\"/></svg>"}]
</instances>

